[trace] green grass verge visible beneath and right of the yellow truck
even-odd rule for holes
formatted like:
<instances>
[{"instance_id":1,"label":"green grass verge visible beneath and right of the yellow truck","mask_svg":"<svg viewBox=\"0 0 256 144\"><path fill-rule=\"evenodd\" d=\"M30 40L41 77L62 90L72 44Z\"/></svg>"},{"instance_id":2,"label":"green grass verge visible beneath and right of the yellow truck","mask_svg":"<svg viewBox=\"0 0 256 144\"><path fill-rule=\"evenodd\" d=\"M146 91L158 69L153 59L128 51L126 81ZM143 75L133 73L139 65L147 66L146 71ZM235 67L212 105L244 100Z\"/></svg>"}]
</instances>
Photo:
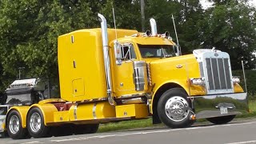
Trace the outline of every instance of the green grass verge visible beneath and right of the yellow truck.
<instances>
[{"instance_id":1,"label":"green grass verge visible beneath and right of the yellow truck","mask_svg":"<svg viewBox=\"0 0 256 144\"><path fill-rule=\"evenodd\" d=\"M250 113L238 115L236 118L249 118L256 117L256 101L249 102ZM198 119L197 122L206 122L206 119ZM114 130L130 130L136 128L150 127L150 126L163 126L153 125L152 118L141 119L141 120L130 120L123 122L111 122L106 124L101 124L98 132L114 131Z\"/></svg>"}]
</instances>

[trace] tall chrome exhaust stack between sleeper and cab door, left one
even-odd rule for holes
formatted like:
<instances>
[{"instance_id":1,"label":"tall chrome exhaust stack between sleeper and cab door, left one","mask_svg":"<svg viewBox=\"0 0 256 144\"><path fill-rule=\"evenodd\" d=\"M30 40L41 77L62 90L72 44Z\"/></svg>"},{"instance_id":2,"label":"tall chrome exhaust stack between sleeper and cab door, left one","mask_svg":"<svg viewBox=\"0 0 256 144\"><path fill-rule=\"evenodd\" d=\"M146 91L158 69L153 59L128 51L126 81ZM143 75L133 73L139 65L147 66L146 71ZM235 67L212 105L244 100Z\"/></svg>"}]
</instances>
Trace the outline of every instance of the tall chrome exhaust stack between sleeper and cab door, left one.
<instances>
[{"instance_id":1,"label":"tall chrome exhaust stack between sleeper and cab door, left one","mask_svg":"<svg viewBox=\"0 0 256 144\"><path fill-rule=\"evenodd\" d=\"M103 55L104 55L105 72L106 72L107 99L110 102L111 106L116 106L116 102L114 101L114 99L112 97L110 55L109 55L109 46L108 46L106 18L102 14L98 14L98 18L99 18L99 21L101 22L101 28L102 28L102 44L103 44Z\"/></svg>"}]
</instances>

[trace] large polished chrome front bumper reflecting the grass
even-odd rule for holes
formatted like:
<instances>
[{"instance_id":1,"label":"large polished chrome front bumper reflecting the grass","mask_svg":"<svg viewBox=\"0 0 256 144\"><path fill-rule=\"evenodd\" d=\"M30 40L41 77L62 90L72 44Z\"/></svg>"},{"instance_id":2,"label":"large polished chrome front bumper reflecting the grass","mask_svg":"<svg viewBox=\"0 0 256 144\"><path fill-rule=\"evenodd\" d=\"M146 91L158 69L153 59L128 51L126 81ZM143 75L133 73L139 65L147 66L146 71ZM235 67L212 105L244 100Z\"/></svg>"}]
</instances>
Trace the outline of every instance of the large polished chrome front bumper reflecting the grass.
<instances>
[{"instance_id":1,"label":"large polished chrome front bumper reflecting the grass","mask_svg":"<svg viewBox=\"0 0 256 144\"><path fill-rule=\"evenodd\" d=\"M246 93L206 95L190 97L190 99L197 119L236 115L249 111ZM221 113L223 108L227 113Z\"/></svg>"}]
</instances>

